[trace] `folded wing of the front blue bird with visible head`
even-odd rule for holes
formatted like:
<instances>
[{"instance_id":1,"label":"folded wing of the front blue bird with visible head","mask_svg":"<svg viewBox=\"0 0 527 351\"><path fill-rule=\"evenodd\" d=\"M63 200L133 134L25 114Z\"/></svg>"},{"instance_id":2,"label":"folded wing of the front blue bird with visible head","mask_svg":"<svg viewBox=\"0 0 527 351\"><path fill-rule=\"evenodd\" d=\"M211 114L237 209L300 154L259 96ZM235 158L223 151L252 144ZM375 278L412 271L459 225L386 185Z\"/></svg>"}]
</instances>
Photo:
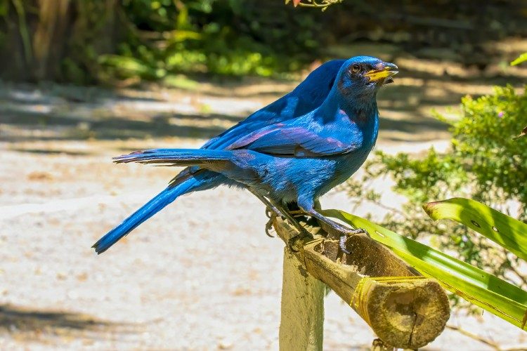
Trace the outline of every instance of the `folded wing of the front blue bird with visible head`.
<instances>
[{"instance_id":1,"label":"folded wing of the front blue bird with visible head","mask_svg":"<svg viewBox=\"0 0 527 351\"><path fill-rule=\"evenodd\" d=\"M229 149L254 150L277 156L322 157L351 152L362 145L361 136L353 133L338 137L328 134L318 134L302 126L275 124L247 135Z\"/></svg>"}]
</instances>

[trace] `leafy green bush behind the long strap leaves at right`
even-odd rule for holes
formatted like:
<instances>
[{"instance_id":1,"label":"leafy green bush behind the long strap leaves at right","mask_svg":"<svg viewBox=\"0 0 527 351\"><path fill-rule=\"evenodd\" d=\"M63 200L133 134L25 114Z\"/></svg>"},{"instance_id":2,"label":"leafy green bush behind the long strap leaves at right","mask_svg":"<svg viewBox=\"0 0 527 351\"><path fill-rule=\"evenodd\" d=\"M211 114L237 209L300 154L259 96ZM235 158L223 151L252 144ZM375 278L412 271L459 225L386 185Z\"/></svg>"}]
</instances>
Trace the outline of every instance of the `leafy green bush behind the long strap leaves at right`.
<instances>
[{"instance_id":1,"label":"leafy green bush behind the long strap leaves at right","mask_svg":"<svg viewBox=\"0 0 527 351\"><path fill-rule=\"evenodd\" d=\"M440 154L432 148L424 155L377 152L365 165L360 181L349 180L345 188L357 204L366 200L384 208L381 194L371 189L378 178L395 181L393 190L403 194L401 208L391 208L382 225L413 239L429 237L431 244L471 265L521 286L519 259L499 246L454 223L435 225L423 213L425 202L450 197L468 197L500 211L527 220L527 140L514 140L527 124L527 93L512 86L497 87L493 95L462 99L460 119L449 121L453 134L450 150Z\"/></svg>"}]
</instances>

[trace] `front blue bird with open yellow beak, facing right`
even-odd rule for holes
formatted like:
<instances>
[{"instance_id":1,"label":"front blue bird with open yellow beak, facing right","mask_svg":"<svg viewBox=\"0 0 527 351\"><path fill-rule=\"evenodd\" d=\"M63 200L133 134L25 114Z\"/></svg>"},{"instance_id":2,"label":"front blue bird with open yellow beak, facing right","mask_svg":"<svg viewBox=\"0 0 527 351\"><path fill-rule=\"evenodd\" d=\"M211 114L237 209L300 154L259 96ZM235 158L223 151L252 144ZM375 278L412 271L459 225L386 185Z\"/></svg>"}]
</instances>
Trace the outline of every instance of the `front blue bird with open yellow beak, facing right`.
<instances>
[{"instance_id":1,"label":"front blue bird with open yellow beak, facing right","mask_svg":"<svg viewBox=\"0 0 527 351\"><path fill-rule=\"evenodd\" d=\"M374 147L379 131L377 91L392 81L396 69L378 58L351 58L339 68L322 104L300 117L263 123L225 142L212 140L221 144L218 149L145 150L115 161L189 166L183 173L200 180L204 169L220 173L245 185L299 231L303 228L288 213L287 204L297 204L345 238L363 230L326 218L315 208L315 201L355 173ZM98 253L117 241L111 233L94 245Z\"/></svg>"}]
</instances>

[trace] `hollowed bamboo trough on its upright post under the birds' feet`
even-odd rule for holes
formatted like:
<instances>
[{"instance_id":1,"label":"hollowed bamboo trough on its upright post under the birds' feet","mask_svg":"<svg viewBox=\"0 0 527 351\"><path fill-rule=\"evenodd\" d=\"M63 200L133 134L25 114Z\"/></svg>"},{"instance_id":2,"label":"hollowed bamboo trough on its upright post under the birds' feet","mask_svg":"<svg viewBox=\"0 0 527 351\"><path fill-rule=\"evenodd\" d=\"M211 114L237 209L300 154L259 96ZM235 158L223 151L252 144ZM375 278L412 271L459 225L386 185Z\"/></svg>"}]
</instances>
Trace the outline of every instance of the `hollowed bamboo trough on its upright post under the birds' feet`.
<instances>
[{"instance_id":1,"label":"hollowed bamboo trough on its upright post under the birds' feet","mask_svg":"<svg viewBox=\"0 0 527 351\"><path fill-rule=\"evenodd\" d=\"M281 219L275 218L273 225L285 242L297 234ZM365 234L349 238L346 249L351 251L351 255L343 256L339 252L338 241L326 239L327 232L318 227L312 227L310 232L312 238L300 239L295 244L298 252L291 256L296 261L287 257L286 248L284 278L287 270L287 279L292 281L298 279L297 282L302 282L304 279L308 282L308 278L315 278L324 282L372 327L386 345L417 349L430 343L443 331L450 317L450 307L445 291L434 279L422 277L389 249ZM290 274L297 274L298 277L292 278ZM311 313L308 309L322 304L315 298L318 288L313 293L301 289L293 300L291 296L294 293L289 289L298 289L299 286L301 284L284 281L280 350L320 350L301 347L314 347L315 344L321 347L322 344L321 333L316 336L316 343L308 341L312 330L322 330L322 318L308 319L308 313ZM311 285L304 286L308 288ZM304 301L308 301L309 307ZM299 310L294 311L295 308ZM323 308L318 307L317 311L322 312ZM297 329L301 324L295 324L293 329L292 321L295 319L320 325L304 324L302 327L311 328L309 332L304 332ZM294 340L293 344L291 340Z\"/></svg>"}]
</instances>

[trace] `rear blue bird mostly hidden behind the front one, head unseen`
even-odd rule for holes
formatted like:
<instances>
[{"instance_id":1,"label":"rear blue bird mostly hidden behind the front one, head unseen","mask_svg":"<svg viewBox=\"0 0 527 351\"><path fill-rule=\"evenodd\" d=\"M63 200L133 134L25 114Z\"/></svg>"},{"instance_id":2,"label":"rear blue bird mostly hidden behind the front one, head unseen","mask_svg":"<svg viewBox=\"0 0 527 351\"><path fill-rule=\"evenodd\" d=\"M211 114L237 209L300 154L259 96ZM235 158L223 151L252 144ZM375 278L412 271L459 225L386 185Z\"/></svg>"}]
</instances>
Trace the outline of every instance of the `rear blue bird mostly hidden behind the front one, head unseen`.
<instances>
[{"instance_id":1,"label":"rear blue bird mostly hidden behind the front one, head unseen","mask_svg":"<svg viewBox=\"0 0 527 351\"><path fill-rule=\"evenodd\" d=\"M337 77L337 72L339 72L344 62L345 60L331 60L320 65L292 92L254 112L243 121L240 121L240 123L212 138L202 146L202 149L223 150L233 141L260 128L280 121L294 119L315 110L327 97L333 86L334 79ZM132 213L117 227L110 230L108 234L105 234L93 245L93 248L96 249L97 253L103 253L119 239L129 234L138 225L154 216L155 213L161 211L162 208L171 204L181 195L212 189L219 185L245 187L244 184L207 168L200 166L186 168L171 180L166 189Z\"/></svg>"}]
</instances>

